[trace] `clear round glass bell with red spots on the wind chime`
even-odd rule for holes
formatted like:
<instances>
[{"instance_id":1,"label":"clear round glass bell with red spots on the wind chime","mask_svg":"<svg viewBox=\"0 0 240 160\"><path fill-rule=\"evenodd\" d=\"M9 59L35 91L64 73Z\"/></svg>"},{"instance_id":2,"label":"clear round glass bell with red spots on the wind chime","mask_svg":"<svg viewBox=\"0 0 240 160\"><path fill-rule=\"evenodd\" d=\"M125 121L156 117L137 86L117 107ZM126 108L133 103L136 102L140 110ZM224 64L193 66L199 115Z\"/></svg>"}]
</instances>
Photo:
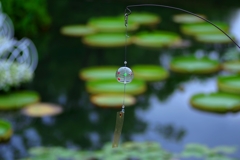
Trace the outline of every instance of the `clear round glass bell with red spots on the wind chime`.
<instances>
[{"instance_id":1,"label":"clear round glass bell with red spots on the wind chime","mask_svg":"<svg viewBox=\"0 0 240 160\"><path fill-rule=\"evenodd\" d=\"M120 83L130 83L133 80L133 72L128 67L120 67L116 71L116 79Z\"/></svg>"}]
</instances>

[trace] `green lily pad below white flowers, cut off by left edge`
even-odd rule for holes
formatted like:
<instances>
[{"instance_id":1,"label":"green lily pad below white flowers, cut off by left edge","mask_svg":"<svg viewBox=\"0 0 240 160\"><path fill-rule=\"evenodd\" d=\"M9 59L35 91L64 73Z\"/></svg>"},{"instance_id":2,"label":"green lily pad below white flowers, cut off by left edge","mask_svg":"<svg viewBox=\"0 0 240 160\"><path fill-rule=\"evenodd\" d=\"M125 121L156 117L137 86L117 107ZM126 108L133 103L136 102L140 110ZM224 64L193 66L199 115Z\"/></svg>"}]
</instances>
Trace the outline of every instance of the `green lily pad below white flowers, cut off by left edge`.
<instances>
[{"instance_id":1,"label":"green lily pad below white flowers, cut off by left edge","mask_svg":"<svg viewBox=\"0 0 240 160\"><path fill-rule=\"evenodd\" d=\"M11 110L24 107L38 102L40 99L37 92L19 91L0 95L0 110Z\"/></svg>"}]
</instances>

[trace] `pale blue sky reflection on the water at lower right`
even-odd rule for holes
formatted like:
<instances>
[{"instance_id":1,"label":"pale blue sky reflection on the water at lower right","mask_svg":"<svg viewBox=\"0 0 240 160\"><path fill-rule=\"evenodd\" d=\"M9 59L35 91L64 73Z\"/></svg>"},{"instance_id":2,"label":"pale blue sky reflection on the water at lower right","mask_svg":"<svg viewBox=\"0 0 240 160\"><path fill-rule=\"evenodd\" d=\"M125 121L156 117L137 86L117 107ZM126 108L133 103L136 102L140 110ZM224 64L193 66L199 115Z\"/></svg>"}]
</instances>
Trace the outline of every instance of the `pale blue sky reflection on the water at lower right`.
<instances>
[{"instance_id":1,"label":"pale blue sky reflection on the water at lower right","mask_svg":"<svg viewBox=\"0 0 240 160\"><path fill-rule=\"evenodd\" d=\"M180 151L183 145L190 142L208 144L209 146L239 145L240 128L236 127L240 121L239 114L206 113L193 109L189 104L191 95L195 93L217 91L215 78L193 79L182 85L184 92L175 90L171 97L165 101L160 101L156 95L152 94L149 108L136 110L137 117L141 117L147 123L148 129L142 134L133 135L133 140L157 140L165 148L171 148L175 151ZM166 139L164 132L159 134L158 131L149 130L149 128L162 125L171 126L171 129L166 127L167 130L178 132L183 130L185 136L176 143L170 138ZM176 140L177 137L178 135L175 134L175 138L172 139Z\"/></svg>"}]
</instances>

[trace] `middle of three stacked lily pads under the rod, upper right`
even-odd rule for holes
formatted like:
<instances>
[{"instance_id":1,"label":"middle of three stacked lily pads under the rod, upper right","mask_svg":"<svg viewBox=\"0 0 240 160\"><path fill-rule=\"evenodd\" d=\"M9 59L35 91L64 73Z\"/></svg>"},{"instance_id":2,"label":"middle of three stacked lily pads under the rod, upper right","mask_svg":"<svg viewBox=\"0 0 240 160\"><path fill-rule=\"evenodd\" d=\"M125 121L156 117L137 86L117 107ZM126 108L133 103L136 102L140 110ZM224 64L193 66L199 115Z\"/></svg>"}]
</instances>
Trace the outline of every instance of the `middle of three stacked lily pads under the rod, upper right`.
<instances>
[{"instance_id":1,"label":"middle of three stacked lily pads under the rod, upper right","mask_svg":"<svg viewBox=\"0 0 240 160\"><path fill-rule=\"evenodd\" d=\"M229 26L223 22L214 22L216 26L221 28L223 31L228 32ZM200 35L207 33L222 33L215 26L204 22L204 23L194 23L194 24L183 24L181 26L181 31L187 35Z\"/></svg>"}]
</instances>

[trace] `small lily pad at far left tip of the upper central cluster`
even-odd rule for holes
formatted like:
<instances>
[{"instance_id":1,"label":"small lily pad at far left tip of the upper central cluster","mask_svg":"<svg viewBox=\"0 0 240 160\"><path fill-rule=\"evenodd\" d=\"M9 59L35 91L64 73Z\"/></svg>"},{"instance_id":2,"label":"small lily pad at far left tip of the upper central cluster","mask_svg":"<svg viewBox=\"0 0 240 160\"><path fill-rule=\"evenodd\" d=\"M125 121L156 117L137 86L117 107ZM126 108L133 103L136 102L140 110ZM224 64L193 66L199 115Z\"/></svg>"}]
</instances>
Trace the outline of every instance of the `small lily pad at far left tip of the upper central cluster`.
<instances>
[{"instance_id":1,"label":"small lily pad at far left tip of the upper central cluster","mask_svg":"<svg viewBox=\"0 0 240 160\"><path fill-rule=\"evenodd\" d=\"M66 36L81 37L95 33L95 29L86 25L68 25L61 28L60 32Z\"/></svg>"}]
</instances>

